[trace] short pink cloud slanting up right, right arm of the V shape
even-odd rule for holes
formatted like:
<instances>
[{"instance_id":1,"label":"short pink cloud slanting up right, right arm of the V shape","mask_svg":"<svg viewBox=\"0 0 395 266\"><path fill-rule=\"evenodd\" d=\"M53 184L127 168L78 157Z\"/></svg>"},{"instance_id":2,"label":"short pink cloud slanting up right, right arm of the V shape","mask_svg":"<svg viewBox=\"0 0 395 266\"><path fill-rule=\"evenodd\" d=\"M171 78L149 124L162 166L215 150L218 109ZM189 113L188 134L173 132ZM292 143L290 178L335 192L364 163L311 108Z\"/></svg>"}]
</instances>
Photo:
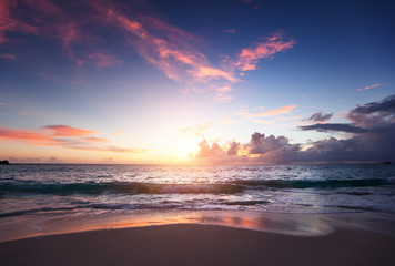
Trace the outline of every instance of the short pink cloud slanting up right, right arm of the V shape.
<instances>
[{"instance_id":1,"label":"short pink cloud slanting up right, right arm of the V shape","mask_svg":"<svg viewBox=\"0 0 395 266\"><path fill-rule=\"evenodd\" d=\"M294 40L284 40L281 34L267 38L265 42L256 43L254 48L244 48L234 65L241 71L255 70L261 59L271 58L277 52L284 52L295 45Z\"/></svg>"}]
</instances>

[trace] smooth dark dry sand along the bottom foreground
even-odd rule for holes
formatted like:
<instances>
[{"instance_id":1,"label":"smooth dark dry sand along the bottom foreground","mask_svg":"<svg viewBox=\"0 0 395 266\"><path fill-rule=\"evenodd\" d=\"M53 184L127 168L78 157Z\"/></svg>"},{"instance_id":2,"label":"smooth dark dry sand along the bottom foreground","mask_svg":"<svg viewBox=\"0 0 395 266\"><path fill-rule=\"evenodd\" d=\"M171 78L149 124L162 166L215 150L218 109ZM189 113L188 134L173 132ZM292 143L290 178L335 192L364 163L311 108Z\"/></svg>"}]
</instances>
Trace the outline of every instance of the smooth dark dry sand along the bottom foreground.
<instances>
[{"instance_id":1,"label":"smooth dark dry sand along the bottom foreground","mask_svg":"<svg viewBox=\"0 0 395 266\"><path fill-rule=\"evenodd\" d=\"M288 236L175 224L0 243L2 265L393 265L395 237L337 228Z\"/></svg>"}]
</instances>

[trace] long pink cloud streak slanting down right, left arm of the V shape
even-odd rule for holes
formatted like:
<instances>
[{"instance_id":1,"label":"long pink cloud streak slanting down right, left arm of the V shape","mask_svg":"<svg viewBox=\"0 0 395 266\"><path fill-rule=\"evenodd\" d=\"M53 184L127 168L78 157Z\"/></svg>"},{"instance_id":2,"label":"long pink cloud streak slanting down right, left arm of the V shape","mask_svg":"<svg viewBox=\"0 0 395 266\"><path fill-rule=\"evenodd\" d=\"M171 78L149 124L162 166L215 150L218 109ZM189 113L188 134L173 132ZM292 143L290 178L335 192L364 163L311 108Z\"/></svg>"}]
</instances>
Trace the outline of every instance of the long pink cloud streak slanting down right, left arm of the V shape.
<instances>
[{"instance_id":1,"label":"long pink cloud streak slanting down right, left arm of the V shape","mask_svg":"<svg viewBox=\"0 0 395 266\"><path fill-rule=\"evenodd\" d=\"M138 52L169 79L184 83L237 81L232 71L211 65L205 55L191 45L190 41L196 38L190 33L152 17L126 17L114 6L94 7L108 23L122 29Z\"/></svg>"}]
</instances>

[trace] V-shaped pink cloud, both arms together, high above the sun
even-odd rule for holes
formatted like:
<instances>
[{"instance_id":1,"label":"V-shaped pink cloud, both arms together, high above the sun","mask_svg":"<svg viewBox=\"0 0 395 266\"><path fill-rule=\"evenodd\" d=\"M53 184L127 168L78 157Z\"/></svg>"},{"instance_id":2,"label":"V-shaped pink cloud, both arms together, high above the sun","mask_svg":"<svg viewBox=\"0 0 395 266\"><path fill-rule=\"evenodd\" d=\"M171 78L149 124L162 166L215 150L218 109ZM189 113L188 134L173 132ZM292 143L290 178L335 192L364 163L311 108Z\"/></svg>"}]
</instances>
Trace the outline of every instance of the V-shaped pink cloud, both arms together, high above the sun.
<instances>
[{"instance_id":1,"label":"V-shaped pink cloud, both arms together, high above the sun","mask_svg":"<svg viewBox=\"0 0 395 266\"><path fill-rule=\"evenodd\" d=\"M109 2L94 3L93 7L101 21L105 21L103 23L121 30L129 43L169 79L199 88L198 91L214 91L214 99L222 102L233 99L230 92L233 84L240 81L235 65L244 69L244 63L256 64L259 59L273 57L294 44L293 40L286 41L281 34L275 34L267 38L267 42L257 43L254 49L244 49L236 61L229 60L223 68L217 68L194 48L199 39L179 28L150 16L133 12L126 16L122 9ZM230 29L226 32L234 31ZM249 52L255 55L249 55Z\"/></svg>"}]
</instances>

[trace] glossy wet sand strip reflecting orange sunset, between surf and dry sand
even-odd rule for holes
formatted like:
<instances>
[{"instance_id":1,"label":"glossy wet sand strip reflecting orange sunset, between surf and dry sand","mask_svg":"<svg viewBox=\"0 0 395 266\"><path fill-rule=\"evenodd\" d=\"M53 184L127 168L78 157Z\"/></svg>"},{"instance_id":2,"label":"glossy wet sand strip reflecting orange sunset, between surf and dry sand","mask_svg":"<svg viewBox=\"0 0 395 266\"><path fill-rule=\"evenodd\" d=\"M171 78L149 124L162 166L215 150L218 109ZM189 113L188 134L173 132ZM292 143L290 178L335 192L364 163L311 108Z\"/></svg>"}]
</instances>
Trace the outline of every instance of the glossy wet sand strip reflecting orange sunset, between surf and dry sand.
<instances>
[{"instance_id":1,"label":"glossy wet sand strip reflecting orange sunset, between surf and dry sand","mask_svg":"<svg viewBox=\"0 0 395 266\"><path fill-rule=\"evenodd\" d=\"M395 237L395 215L386 213L262 213L249 211L91 211L0 218L0 243L31 237L176 224L214 225L290 236L317 237L336 228Z\"/></svg>"}]
</instances>

